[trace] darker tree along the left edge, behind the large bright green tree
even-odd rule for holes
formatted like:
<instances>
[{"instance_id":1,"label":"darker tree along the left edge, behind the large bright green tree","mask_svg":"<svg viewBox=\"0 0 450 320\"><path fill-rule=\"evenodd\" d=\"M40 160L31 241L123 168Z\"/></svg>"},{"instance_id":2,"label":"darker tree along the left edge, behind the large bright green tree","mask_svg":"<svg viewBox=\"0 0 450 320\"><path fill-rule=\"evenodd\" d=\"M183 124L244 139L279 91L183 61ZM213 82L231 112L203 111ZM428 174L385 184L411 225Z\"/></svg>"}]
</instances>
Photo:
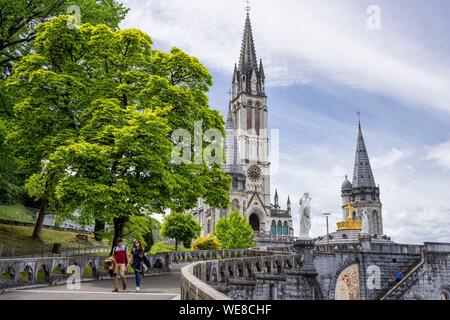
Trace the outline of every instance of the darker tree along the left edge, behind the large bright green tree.
<instances>
[{"instance_id":1,"label":"darker tree along the left edge, behind the large bright green tree","mask_svg":"<svg viewBox=\"0 0 450 320\"><path fill-rule=\"evenodd\" d=\"M16 62L35 52L34 40L37 37L36 26L39 23L70 13L73 16L66 17L66 22L72 26L76 26L79 22L89 22L104 23L118 29L127 12L128 9L116 0L0 0L0 120L4 119L1 120L3 121L1 135L6 136L16 130L14 117L17 114L13 106L24 99L23 92L26 92L16 86L7 87L5 82ZM23 194L23 184L30 177L30 171L22 170L23 157L15 156L18 154L15 151L17 144L7 146L5 141L0 139L1 201L14 202ZM36 168L32 172L35 171ZM41 211L44 207L41 206ZM39 237L39 224L42 221L41 214L34 232L36 238Z\"/></svg>"}]
</instances>

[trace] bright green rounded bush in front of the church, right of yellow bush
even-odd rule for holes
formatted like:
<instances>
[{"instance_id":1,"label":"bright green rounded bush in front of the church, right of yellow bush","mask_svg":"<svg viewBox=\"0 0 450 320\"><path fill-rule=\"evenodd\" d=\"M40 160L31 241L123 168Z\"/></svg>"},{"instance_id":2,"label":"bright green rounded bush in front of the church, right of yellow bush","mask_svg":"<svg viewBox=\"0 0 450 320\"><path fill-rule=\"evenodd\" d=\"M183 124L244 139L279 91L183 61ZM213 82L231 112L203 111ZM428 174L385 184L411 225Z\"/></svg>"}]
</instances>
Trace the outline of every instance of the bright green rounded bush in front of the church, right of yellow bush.
<instances>
[{"instance_id":1,"label":"bright green rounded bush in front of the church, right of yellow bush","mask_svg":"<svg viewBox=\"0 0 450 320\"><path fill-rule=\"evenodd\" d=\"M250 223L238 211L233 211L228 217L220 218L215 236L224 249L249 249L256 246Z\"/></svg>"}]
</instances>

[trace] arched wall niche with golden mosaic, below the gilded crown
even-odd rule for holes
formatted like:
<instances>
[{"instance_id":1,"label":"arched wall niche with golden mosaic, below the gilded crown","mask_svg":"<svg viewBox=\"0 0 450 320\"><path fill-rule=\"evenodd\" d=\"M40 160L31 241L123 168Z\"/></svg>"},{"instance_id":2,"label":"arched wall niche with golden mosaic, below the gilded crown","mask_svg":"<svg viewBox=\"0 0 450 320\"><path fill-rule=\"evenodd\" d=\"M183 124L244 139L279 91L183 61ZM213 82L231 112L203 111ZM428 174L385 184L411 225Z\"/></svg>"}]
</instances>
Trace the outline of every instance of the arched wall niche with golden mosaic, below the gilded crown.
<instances>
[{"instance_id":1,"label":"arched wall niche with golden mosaic, below the gilded crown","mask_svg":"<svg viewBox=\"0 0 450 320\"><path fill-rule=\"evenodd\" d=\"M348 266L339 274L334 294L335 300L361 300L358 264Z\"/></svg>"}]
</instances>

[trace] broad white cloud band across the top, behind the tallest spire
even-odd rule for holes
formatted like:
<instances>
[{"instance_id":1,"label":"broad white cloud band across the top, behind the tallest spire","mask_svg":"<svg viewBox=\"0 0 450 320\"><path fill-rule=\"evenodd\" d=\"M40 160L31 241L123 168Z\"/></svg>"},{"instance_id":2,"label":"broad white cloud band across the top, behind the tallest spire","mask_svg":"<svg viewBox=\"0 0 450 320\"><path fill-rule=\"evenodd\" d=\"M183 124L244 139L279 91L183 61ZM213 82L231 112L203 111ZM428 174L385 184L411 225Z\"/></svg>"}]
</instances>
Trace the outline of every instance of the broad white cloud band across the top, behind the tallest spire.
<instances>
[{"instance_id":1,"label":"broad white cloud band across the top, behind the tallest spire","mask_svg":"<svg viewBox=\"0 0 450 320\"><path fill-rule=\"evenodd\" d=\"M124 27L139 27L199 56L208 66L231 73L239 54L243 1L129 0L126 4L132 10ZM383 20L380 31L370 31L366 9L359 1L284 0L276 7L272 0L255 3L253 31L269 83L345 85L450 112L448 63L439 60L439 53L415 45L427 39L402 33L398 21L392 21L401 13Z\"/></svg>"}]
</instances>

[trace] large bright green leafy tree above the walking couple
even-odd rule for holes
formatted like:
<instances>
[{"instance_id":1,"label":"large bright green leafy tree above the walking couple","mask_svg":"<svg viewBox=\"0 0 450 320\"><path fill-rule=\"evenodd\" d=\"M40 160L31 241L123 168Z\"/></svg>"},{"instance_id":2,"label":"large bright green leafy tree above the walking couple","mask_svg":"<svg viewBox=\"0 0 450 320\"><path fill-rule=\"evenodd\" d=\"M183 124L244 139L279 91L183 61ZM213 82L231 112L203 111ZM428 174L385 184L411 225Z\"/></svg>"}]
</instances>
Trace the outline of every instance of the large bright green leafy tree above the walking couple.
<instances>
[{"instance_id":1,"label":"large bright green leafy tree above the walking couple","mask_svg":"<svg viewBox=\"0 0 450 320\"><path fill-rule=\"evenodd\" d=\"M23 95L9 140L27 190L42 200L39 217L78 211L81 223L113 223L119 237L130 216L185 211L198 198L227 207L230 179L219 165L172 162L176 129L201 121L223 132L208 106L207 69L181 50L153 50L139 30L69 29L66 20L38 27L36 53L9 80Z\"/></svg>"}]
</instances>

